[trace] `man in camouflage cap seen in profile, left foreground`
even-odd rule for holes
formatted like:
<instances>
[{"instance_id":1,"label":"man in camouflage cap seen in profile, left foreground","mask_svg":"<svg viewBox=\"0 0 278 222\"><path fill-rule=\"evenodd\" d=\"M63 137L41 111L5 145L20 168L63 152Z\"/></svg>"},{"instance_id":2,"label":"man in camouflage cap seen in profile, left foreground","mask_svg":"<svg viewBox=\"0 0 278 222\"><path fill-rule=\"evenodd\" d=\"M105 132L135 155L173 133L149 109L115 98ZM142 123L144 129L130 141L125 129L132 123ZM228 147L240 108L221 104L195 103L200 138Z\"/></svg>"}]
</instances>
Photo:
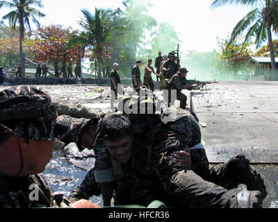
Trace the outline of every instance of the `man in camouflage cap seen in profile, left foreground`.
<instances>
[{"instance_id":1,"label":"man in camouflage cap seen in profile, left foreground","mask_svg":"<svg viewBox=\"0 0 278 222\"><path fill-rule=\"evenodd\" d=\"M55 203L51 200L56 195L51 195L38 173L69 133L67 121L56 126L57 117L50 96L35 87L0 92L0 208L51 207ZM37 198L33 196L36 192ZM97 207L85 200L72 205L85 206Z\"/></svg>"}]
</instances>

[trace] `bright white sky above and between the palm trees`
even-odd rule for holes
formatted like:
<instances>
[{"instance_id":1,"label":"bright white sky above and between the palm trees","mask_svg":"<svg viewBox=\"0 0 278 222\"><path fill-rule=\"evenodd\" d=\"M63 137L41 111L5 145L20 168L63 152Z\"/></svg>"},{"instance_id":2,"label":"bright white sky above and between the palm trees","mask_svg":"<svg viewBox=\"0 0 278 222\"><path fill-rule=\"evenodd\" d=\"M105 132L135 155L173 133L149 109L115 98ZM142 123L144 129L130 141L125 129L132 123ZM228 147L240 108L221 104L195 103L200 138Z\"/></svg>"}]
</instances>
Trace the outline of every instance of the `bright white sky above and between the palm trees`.
<instances>
[{"instance_id":1,"label":"bright white sky above and between the palm trees","mask_svg":"<svg viewBox=\"0 0 278 222\"><path fill-rule=\"evenodd\" d=\"M144 0L142 0L144 1ZM225 38L234 26L250 11L249 7L224 6L210 8L212 0L152 0L149 9L158 23L169 22L179 33L181 51L213 51L216 37ZM79 28L81 9L94 12L97 8L123 8L122 0L44 0L42 12L47 17L40 19L44 26L62 24ZM1 10L0 17L8 10Z\"/></svg>"}]
</instances>

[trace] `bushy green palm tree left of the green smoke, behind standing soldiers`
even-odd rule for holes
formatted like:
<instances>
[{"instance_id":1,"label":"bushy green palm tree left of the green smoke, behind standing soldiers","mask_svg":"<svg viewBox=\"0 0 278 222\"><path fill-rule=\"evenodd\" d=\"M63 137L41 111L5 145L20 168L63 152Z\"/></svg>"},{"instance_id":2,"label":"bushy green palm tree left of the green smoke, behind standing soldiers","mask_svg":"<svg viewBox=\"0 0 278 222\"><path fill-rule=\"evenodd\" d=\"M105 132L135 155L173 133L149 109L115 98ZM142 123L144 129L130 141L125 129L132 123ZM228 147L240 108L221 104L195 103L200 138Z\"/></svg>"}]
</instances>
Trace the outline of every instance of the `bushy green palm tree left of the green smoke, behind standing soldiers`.
<instances>
[{"instance_id":1,"label":"bushy green palm tree left of the green smoke, behind standing soldiers","mask_svg":"<svg viewBox=\"0 0 278 222\"><path fill-rule=\"evenodd\" d=\"M80 44L83 49L92 49L92 57L97 58L98 78L101 78L101 58L111 50L113 35L119 27L113 23L114 13L111 10L95 8L95 15L88 10L81 12L85 19L81 20L80 25L85 31L74 36L70 45Z\"/></svg>"}]
</instances>

